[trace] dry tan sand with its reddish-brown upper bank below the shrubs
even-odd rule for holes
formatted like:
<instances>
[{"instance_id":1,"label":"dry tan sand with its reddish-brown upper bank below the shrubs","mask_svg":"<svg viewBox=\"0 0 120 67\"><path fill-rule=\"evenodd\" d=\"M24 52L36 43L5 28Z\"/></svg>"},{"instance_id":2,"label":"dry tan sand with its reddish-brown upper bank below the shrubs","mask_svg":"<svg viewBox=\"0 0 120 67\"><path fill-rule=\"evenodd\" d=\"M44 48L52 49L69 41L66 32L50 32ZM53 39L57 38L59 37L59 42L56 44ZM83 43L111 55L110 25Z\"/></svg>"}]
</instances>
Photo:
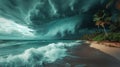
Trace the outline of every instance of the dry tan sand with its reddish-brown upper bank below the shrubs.
<instances>
[{"instance_id":1,"label":"dry tan sand with its reddish-brown upper bank below the shrubs","mask_svg":"<svg viewBox=\"0 0 120 67\"><path fill-rule=\"evenodd\" d=\"M114 42L97 42L97 41L86 41L90 44L90 47L98 49L114 58L120 60L120 43Z\"/></svg>"}]
</instances>

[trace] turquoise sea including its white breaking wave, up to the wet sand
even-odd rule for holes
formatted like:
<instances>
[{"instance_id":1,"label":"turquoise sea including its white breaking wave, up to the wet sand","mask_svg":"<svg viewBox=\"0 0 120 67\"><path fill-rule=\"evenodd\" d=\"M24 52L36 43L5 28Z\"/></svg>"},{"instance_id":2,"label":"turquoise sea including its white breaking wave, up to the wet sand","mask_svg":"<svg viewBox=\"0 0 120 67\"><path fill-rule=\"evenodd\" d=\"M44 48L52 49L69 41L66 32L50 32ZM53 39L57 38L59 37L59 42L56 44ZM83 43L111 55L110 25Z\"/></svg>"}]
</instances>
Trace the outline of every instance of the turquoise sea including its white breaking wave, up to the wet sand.
<instances>
[{"instance_id":1,"label":"turquoise sea including its white breaking wave, up to the wet sand","mask_svg":"<svg viewBox=\"0 0 120 67\"><path fill-rule=\"evenodd\" d=\"M59 67L75 40L8 41L0 45L0 67ZM54 64L55 63L55 64ZM62 66L70 66L65 63Z\"/></svg>"}]
</instances>

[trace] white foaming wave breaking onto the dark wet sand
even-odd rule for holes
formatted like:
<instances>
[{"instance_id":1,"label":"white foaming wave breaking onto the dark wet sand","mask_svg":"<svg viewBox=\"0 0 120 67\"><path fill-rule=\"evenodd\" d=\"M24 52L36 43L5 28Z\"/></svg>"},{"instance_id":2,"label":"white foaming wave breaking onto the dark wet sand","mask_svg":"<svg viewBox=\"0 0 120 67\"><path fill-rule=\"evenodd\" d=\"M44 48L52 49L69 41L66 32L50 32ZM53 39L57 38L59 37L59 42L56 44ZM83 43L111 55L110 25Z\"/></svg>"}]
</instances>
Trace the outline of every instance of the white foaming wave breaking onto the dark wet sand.
<instances>
[{"instance_id":1,"label":"white foaming wave breaking onto the dark wet sand","mask_svg":"<svg viewBox=\"0 0 120 67\"><path fill-rule=\"evenodd\" d=\"M43 63L53 63L57 59L63 59L67 54L67 47L78 45L77 43L51 43L44 47L30 48L19 55L9 55L0 58L0 66L34 67ZM31 66L32 65L32 66Z\"/></svg>"}]
</instances>

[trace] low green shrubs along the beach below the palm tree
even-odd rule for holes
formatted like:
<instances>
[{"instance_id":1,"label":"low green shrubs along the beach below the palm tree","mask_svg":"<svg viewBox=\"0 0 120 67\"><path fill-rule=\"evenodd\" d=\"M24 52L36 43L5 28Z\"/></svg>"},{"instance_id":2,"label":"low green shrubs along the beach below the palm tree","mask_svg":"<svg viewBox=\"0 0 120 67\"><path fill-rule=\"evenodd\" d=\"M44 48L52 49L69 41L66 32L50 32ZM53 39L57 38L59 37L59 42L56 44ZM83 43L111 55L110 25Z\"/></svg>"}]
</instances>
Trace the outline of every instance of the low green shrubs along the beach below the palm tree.
<instances>
[{"instance_id":1,"label":"low green shrubs along the beach below the palm tree","mask_svg":"<svg viewBox=\"0 0 120 67\"><path fill-rule=\"evenodd\" d=\"M105 36L104 33L96 32L92 34L85 34L80 39L82 40L94 40L94 41L112 41L120 42L120 32L119 33L108 33L108 36Z\"/></svg>"}]
</instances>

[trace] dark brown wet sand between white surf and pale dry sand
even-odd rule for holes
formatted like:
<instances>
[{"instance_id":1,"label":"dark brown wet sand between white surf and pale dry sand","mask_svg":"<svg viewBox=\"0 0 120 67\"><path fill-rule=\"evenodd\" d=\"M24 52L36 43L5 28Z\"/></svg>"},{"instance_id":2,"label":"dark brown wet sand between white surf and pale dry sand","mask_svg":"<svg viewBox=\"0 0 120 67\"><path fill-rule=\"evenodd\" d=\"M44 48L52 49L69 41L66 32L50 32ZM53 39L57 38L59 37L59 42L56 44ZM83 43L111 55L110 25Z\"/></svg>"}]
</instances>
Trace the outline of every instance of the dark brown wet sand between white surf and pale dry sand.
<instances>
[{"instance_id":1,"label":"dark brown wet sand between white surf and pale dry sand","mask_svg":"<svg viewBox=\"0 0 120 67\"><path fill-rule=\"evenodd\" d=\"M83 44L68 48L70 56L56 61L54 64L47 64L46 67L120 67L120 60L115 57L90 47L90 44Z\"/></svg>"}]
</instances>

